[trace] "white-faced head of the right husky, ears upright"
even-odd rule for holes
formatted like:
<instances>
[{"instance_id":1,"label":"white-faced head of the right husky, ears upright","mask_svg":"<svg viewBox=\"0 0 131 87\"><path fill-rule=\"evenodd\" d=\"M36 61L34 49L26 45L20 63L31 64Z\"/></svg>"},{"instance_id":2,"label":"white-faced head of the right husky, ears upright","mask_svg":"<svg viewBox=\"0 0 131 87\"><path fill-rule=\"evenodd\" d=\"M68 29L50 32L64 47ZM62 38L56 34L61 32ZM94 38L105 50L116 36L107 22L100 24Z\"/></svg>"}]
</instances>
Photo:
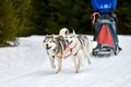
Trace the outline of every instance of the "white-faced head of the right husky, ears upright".
<instances>
[{"instance_id":1,"label":"white-faced head of the right husky, ears upright","mask_svg":"<svg viewBox=\"0 0 131 87\"><path fill-rule=\"evenodd\" d=\"M76 40L78 40L76 37L78 36L76 36L75 32L73 30L73 33L70 33L66 36L66 41L71 46L76 42Z\"/></svg>"}]
</instances>

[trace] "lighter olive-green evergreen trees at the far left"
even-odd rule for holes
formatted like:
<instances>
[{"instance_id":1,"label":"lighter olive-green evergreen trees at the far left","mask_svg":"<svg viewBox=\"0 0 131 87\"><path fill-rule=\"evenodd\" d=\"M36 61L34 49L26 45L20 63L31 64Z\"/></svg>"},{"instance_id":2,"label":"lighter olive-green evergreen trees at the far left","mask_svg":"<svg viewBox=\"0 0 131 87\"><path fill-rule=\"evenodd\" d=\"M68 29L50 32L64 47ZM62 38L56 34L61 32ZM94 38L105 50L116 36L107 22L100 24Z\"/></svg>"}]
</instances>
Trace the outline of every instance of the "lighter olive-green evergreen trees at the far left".
<instances>
[{"instance_id":1,"label":"lighter olive-green evergreen trees at the far left","mask_svg":"<svg viewBox=\"0 0 131 87\"><path fill-rule=\"evenodd\" d=\"M0 0L0 47L29 32L29 3L31 0Z\"/></svg>"}]
</instances>

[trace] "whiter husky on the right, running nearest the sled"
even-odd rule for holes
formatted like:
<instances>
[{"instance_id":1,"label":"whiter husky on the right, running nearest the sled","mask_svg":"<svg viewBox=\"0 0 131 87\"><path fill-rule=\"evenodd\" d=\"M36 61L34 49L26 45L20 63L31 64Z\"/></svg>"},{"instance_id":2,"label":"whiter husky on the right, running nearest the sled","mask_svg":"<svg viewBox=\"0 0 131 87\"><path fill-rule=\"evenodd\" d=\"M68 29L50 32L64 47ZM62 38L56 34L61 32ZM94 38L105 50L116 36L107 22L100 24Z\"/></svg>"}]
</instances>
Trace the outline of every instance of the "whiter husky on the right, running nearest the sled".
<instances>
[{"instance_id":1,"label":"whiter husky on the right, running nearest the sled","mask_svg":"<svg viewBox=\"0 0 131 87\"><path fill-rule=\"evenodd\" d=\"M69 44L69 49L73 58L75 72L83 65L84 57L86 55L88 64L91 64L90 50L93 49L93 42L84 35L72 34L66 36L66 41Z\"/></svg>"}]
</instances>

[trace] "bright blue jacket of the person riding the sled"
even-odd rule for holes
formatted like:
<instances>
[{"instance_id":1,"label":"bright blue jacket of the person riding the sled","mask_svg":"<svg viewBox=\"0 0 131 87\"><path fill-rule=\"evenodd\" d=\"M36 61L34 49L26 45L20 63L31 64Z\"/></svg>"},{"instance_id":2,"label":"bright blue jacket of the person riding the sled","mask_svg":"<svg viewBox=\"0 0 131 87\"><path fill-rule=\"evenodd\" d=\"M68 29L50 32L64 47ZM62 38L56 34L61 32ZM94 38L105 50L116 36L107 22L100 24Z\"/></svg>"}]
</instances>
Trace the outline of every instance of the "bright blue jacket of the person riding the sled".
<instances>
[{"instance_id":1,"label":"bright blue jacket of the person riding the sled","mask_svg":"<svg viewBox=\"0 0 131 87\"><path fill-rule=\"evenodd\" d=\"M117 0L92 0L94 11L110 12L117 7Z\"/></svg>"}]
</instances>

